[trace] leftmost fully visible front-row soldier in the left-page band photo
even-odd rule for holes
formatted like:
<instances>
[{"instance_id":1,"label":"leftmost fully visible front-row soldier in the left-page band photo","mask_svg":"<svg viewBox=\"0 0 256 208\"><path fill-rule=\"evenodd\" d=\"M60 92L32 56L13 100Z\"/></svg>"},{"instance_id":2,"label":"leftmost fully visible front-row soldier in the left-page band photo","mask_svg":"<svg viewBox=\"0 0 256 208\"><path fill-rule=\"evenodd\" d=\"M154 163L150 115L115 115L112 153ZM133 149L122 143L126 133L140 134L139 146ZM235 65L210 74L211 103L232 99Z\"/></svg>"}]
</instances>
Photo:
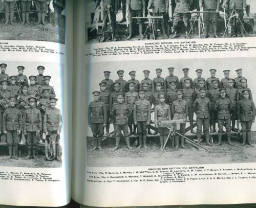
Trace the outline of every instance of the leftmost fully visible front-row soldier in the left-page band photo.
<instances>
[{"instance_id":1,"label":"leftmost fully visible front-row soldier in the left-page band photo","mask_svg":"<svg viewBox=\"0 0 256 208\"><path fill-rule=\"evenodd\" d=\"M18 159L17 143L19 142L18 135L22 130L22 112L15 107L16 97L9 98L10 107L5 110L3 115L3 132L7 134L7 144L9 150L8 159Z\"/></svg>"}]
</instances>

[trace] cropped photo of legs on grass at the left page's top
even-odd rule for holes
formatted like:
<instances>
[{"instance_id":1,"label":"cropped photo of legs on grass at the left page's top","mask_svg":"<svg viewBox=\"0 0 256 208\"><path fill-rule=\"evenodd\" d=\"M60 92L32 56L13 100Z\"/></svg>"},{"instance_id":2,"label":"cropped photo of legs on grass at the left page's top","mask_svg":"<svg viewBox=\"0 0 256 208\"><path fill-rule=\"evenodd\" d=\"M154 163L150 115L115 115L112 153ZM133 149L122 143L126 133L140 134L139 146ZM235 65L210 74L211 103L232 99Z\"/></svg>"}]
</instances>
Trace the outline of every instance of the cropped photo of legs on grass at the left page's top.
<instances>
[{"instance_id":1,"label":"cropped photo of legs on grass at the left page's top","mask_svg":"<svg viewBox=\"0 0 256 208\"><path fill-rule=\"evenodd\" d=\"M65 44L65 0L1 0L0 39Z\"/></svg>"}]
</instances>

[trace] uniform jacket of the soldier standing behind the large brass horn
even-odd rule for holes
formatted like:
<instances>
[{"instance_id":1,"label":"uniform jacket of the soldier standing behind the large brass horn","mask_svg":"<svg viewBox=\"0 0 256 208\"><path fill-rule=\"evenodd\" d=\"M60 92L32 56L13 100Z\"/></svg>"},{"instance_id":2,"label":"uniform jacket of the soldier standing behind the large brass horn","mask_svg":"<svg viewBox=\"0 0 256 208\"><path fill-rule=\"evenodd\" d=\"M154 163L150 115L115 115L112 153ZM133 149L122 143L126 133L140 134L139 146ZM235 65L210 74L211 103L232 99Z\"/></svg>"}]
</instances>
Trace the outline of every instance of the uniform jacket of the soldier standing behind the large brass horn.
<instances>
[{"instance_id":1,"label":"uniform jacket of the soldier standing behind the large brass horn","mask_svg":"<svg viewBox=\"0 0 256 208\"><path fill-rule=\"evenodd\" d=\"M62 117L60 110L57 108L50 108L46 111L44 116L43 130L46 131L61 131Z\"/></svg>"}]
</instances>

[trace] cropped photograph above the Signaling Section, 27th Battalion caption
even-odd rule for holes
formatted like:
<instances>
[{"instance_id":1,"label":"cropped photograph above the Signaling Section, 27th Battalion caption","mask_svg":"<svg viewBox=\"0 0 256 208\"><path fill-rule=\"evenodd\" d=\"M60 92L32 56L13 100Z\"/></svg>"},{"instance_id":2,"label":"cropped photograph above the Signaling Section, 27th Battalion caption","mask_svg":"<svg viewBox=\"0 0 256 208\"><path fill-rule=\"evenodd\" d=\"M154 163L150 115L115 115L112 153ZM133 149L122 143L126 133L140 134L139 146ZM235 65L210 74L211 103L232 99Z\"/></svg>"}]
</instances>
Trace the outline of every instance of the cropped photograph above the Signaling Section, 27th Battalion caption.
<instances>
[{"instance_id":1,"label":"cropped photograph above the Signaling Section, 27th Battalion caption","mask_svg":"<svg viewBox=\"0 0 256 208\"><path fill-rule=\"evenodd\" d=\"M86 43L254 37L254 0L90 0Z\"/></svg>"}]
</instances>

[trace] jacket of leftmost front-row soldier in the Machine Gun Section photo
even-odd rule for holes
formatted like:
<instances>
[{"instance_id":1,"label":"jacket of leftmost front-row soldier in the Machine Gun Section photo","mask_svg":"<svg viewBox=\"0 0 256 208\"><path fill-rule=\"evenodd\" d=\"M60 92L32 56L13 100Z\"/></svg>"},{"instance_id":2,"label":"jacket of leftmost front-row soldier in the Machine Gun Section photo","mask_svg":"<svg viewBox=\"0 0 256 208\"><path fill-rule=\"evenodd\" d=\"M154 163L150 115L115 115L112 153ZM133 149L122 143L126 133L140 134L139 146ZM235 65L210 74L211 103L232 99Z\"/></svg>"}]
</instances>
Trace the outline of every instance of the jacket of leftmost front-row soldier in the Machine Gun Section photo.
<instances>
[{"instance_id":1,"label":"jacket of leftmost front-row soldier in the Machine Gun Section photo","mask_svg":"<svg viewBox=\"0 0 256 208\"><path fill-rule=\"evenodd\" d=\"M88 107L88 123L106 124L106 107L101 101L93 101Z\"/></svg>"}]
</instances>

